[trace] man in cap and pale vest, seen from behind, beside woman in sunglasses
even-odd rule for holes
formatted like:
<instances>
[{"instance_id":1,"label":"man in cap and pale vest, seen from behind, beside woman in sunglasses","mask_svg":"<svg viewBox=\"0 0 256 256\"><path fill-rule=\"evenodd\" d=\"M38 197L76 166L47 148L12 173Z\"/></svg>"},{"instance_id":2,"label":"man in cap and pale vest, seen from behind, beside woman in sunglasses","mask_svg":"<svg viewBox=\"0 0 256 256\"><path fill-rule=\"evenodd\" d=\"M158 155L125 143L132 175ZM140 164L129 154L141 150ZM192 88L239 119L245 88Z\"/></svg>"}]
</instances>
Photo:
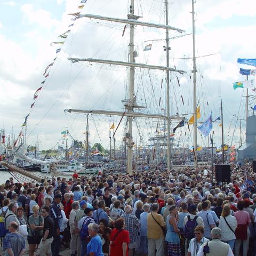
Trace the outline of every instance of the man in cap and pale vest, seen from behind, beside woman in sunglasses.
<instances>
[{"instance_id":1,"label":"man in cap and pale vest, seen from behind, beside woman in sunglasses","mask_svg":"<svg viewBox=\"0 0 256 256\"><path fill-rule=\"evenodd\" d=\"M221 239L221 229L213 228L211 231L212 241L204 243L199 248L197 256L234 256L229 244L223 243Z\"/></svg>"}]
</instances>

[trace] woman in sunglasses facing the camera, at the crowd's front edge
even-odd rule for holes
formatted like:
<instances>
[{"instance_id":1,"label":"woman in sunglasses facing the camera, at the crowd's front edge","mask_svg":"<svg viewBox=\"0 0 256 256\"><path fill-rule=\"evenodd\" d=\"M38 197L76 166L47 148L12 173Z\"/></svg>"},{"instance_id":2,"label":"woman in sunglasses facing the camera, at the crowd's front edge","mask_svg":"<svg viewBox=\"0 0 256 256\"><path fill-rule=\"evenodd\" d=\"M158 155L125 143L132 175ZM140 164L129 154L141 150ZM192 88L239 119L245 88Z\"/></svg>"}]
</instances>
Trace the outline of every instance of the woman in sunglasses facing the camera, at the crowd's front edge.
<instances>
[{"instance_id":1,"label":"woman in sunglasses facing the camera, at the crowd's front edge","mask_svg":"<svg viewBox=\"0 0 256 256\"><path fill-rule=\"evenodd\" d=\"M195 233L195 238L192 238L190 240L187 256L196 256L200 246L210 241L209 239L204 237L203 226L196 226L196 228L194 229L194 233Z\"/></svg>"}]
</instances>

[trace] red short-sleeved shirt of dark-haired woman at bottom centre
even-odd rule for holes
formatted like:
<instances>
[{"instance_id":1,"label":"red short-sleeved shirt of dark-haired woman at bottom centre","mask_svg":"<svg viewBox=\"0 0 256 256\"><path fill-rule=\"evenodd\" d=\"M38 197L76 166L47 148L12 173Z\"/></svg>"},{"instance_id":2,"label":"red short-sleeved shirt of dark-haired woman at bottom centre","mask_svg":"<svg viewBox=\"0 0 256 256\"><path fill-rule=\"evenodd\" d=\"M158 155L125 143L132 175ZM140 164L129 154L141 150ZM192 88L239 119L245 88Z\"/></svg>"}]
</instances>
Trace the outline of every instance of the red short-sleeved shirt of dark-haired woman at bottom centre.
<instances>
[{"instance_id":1,"label":"red short-sleeved shirt of dark-haired woman at bottom centre","mask_svg":"<svg viewBox=\"0 0 256 256\"><path fill-rule=\"evenodd\" d=\"M119 230L114 228L111 231L111 235L110 235L110 241L113 241L116 233ZM127 250L126 250L126 256L128 256L128 244L130 243L130 238L129 238L129 231L127 230L122 230L121 232L119 232L119 234L116 236L113 244L115 244L115 246L111 246L110 249L110 256L120 256L123 255L123 243L127 243Z\"/></svg>"}]
</instances>

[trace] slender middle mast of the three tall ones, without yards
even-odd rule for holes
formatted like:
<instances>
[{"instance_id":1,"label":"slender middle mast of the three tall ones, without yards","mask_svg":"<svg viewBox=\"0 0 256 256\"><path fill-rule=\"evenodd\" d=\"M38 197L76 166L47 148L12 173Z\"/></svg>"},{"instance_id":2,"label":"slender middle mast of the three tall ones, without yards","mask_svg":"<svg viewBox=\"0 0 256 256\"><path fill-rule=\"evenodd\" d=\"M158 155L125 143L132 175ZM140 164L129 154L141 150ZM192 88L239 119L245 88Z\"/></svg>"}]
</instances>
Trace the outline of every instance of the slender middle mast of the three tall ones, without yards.
<instances>
[{"instance_id":1,"label":"slender middle mast of the three tall ones, without yards","mask_svg":"<svg viewBox=\"0 0 256 256\"><path fill-rule=\"evenodd\" d=\"M168 0L165 0L165 24L168 25ZM166 66L169 67L169 30L166 29ZM166 71L166 108L167 108L167 171L171 170L171 126L170 126L170 73Z\"/></svg>"}]
</instances>

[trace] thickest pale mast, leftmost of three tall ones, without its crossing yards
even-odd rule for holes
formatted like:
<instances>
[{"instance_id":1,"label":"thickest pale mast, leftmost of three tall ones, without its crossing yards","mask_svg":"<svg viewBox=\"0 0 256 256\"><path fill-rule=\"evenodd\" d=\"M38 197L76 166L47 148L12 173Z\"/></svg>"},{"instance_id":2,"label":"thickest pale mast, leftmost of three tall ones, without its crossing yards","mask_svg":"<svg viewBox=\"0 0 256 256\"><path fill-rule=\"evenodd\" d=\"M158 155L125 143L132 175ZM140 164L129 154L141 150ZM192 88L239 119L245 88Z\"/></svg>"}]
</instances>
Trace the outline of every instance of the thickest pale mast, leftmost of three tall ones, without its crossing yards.
<instances>
[{"instance_id":1,"label":"thickest pale mast, leftmost of three tall ones, without its crossing yards","mask_svg":"<svg viewBox=\"0 0 256 256\"><path fill-rule=\"evenodd\" d=\"M130 14L134 14L134 0L131 0L130 5ZM129 44L129 54L130 54L130 62L134 62L134 25L130 25L130 44ZM134 97L134 67L130 67L129 74L129 105L128 111L133 112L133 97ZM133 156L133 147L132 147L132 117L128 117L128 152L127 152L127 172L132 173L132 156Z\"/></svg>"}]
</instances>

